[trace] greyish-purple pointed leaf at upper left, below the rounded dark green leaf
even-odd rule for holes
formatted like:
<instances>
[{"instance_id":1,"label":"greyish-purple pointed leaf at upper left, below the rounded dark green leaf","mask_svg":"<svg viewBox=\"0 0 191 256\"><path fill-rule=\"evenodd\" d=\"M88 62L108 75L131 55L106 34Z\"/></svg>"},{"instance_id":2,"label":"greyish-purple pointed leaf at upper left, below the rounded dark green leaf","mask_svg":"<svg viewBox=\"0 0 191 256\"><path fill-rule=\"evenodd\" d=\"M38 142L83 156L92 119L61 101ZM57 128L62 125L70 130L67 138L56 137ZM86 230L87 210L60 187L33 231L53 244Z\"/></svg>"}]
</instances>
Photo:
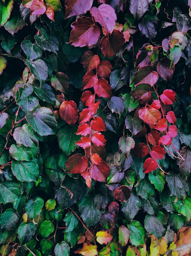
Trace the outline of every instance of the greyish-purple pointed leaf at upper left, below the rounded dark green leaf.
<instances>
[{"instance_id":1,"label":"greyish-purple pointed leaf at upper left, below the rounded dark green leaf","mask_svg":"<svg viewBox=\"0 0 191 256\"><path fill-rule=\"evenodd\" d=\"M48 67L42 59L36 59L35 61L25 59L24 62L31 70L31 73L40 81L40 84L47 79Z\"/></svg>"}]
</instances>

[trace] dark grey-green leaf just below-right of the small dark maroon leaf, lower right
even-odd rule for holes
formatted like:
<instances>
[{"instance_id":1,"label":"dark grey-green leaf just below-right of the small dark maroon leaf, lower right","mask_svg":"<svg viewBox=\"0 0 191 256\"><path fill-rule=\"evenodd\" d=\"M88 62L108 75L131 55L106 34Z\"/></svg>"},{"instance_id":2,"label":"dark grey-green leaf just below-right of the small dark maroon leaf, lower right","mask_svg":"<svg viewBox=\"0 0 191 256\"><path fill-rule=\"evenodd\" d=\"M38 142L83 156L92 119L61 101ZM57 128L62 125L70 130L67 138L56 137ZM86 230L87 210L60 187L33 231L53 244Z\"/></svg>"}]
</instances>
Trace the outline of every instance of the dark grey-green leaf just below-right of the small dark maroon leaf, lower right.
<instances>
[{"instance_id":1,"label":"dark grey-green leaf just below-right of the small dark maroon leaf, lower right","mask_svg":"<svg viewBox=\"0 0 191 256\"><path fill-rule=\"evenodd\" d=\"M125 218L128 221L131 221L134 218L134 216L137 215L140 208L141 201L139 197L136 197L135 195L131 194L131 196L126 202L122 202L121 210L123 211Z\"/></svg>"}]
</instances>

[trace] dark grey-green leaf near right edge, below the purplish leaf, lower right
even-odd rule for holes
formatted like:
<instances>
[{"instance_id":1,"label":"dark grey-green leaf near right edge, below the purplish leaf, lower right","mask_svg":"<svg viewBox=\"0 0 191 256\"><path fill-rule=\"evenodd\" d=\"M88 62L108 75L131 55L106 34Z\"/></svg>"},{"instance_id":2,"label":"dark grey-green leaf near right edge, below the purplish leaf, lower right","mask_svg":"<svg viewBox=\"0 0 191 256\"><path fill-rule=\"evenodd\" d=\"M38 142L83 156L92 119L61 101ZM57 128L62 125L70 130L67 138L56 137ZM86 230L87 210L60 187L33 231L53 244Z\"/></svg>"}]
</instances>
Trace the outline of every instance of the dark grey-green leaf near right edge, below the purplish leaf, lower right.
<instances>
[{"instance_id":1,"label":"dark grey-green leaf near right edge, below the purplish leaf, lower right","mask_svg":"<svg viewBox=\"0 0 191 256\"><path fill-rule=\"evenodd\" d=\"M171 173L166 175L166 181L168 183L168 187L170 188L170 196L175 195L178 198L182 198L186 195L187 192L187 184L180 176Z\"/></svg>"}]
</instances>

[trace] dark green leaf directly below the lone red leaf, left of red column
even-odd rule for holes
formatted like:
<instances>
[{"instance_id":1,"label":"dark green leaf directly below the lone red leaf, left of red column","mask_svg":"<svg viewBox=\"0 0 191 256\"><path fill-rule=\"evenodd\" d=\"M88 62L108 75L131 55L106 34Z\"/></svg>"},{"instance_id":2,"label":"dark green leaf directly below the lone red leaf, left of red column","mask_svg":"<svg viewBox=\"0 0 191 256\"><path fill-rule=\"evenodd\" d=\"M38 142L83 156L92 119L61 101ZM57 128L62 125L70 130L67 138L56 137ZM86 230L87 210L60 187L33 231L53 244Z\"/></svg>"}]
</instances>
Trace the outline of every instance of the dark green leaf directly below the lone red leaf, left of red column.
<instances>
[{"instance_id":1,"label":"dark green leaf directly below the lone red leaf, left of red column","mask_svg":"<svg viewBox=\"0 0 191 256\"><path fill-rule=\"evenodd\" d=\"M65 126L58 130L58 144L60 149L66 154L70 155L76 149L75 142L80 139L80 135L76 135L77 126Z\"/></svg>"}]
</instances>

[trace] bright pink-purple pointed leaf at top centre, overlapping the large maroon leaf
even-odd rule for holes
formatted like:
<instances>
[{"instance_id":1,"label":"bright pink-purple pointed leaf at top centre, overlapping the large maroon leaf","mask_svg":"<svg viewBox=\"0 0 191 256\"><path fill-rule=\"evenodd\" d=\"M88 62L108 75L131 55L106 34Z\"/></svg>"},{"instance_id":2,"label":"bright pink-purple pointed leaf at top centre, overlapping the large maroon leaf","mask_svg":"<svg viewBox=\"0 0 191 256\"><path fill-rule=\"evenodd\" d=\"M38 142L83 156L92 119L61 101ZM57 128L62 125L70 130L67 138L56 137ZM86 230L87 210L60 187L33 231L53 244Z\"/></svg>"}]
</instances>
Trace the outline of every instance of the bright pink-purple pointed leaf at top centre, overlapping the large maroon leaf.
<instances>
[{"instance_id":1,"label":"bright pink-purple pointed leaf at top centre, overlapping the large maroon leaf","mask_svg":"<svg viewBox=\"0 0 191 256\"><path fill-rule=\"evenodd\" d=\"M91 15L96 22L99 22L101 26L105 28L107 33L112 33L115 26L117 16L113 7L107 4L102 4L98 8L92 7L90 10Z\"/></svg>"}]
</instances>

